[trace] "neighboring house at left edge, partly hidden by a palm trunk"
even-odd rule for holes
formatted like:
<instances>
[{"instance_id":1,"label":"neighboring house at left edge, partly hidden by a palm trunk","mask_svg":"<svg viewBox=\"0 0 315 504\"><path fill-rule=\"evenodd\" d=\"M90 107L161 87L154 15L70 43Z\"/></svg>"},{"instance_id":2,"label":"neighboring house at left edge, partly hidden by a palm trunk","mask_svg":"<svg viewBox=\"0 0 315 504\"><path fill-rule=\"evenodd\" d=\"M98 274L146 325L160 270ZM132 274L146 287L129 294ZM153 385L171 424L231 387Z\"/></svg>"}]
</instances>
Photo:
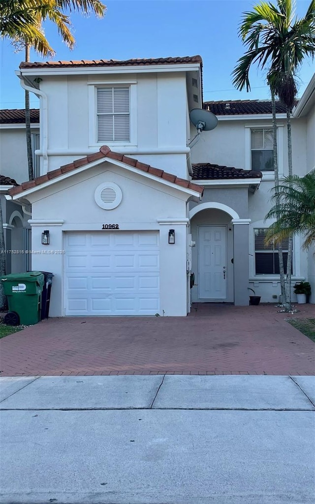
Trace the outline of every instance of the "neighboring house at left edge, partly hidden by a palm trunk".
<instances>
[{"instance_id":1,"label":"neighboring house at left edge, partly hidden by a palm trunk","mask_svg":"<svg viewBox=\"0 0 315 504\"><path fill-rule=\"evenodd\" d=\"M39 110L31 109L33 151L39 147ZM35 175L39 175L39 158L33 156ZM18 273L31 267L25 250L31 246L31 228L27 220L31 207L28 202L7 201L8 190L28 179L25 135L25 110L0 110L0 200L6 246L6 271ZM17 183L18 182L18 183Z\"/></svg>"}]
</instances>

